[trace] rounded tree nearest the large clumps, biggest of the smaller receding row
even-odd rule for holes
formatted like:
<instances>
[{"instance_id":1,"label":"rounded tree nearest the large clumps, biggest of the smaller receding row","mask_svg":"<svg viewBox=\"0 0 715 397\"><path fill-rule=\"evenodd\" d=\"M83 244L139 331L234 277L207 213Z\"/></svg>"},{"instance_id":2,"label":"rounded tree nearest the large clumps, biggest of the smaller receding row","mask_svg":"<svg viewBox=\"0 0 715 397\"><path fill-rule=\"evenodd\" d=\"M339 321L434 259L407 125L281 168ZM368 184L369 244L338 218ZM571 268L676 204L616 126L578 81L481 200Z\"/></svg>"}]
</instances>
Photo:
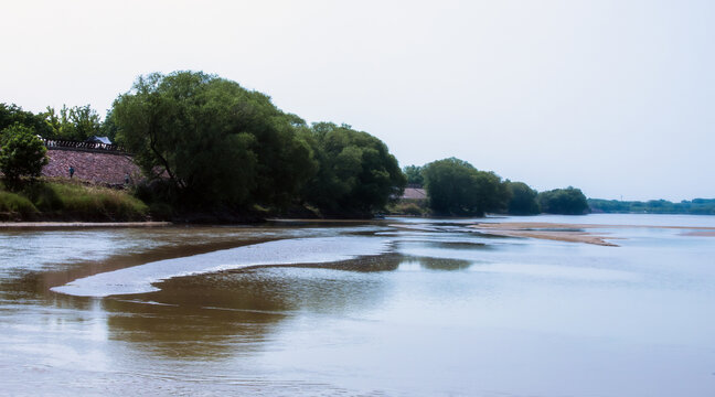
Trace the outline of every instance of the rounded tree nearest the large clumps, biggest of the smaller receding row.
<instances>
[{"instance_id":1,"label":"rounded tree nearest the large clumps, biggest of the smaller receding row","mask_svg":"<svg viewBox=\"0 0 715 397\"><path fill-rule=\"evenodd\" d=\"M456 158L430 162L423 169L427 196L437 215L483 216L506 207L510 191L493 172L477 170Z\"/></svg>"}]
</instances>

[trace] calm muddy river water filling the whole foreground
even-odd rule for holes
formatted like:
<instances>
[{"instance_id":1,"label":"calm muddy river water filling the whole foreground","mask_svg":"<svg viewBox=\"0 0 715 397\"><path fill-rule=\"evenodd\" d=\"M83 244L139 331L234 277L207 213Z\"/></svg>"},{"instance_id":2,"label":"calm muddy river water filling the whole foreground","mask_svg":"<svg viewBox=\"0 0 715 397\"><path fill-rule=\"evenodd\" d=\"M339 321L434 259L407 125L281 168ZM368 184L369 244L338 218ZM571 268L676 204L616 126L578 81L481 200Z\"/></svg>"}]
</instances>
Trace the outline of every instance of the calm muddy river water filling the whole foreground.
<instances>
[{"instance_id":1,"label":"calm muddy river water filling the whole foreground","mask_svg":"<svg viewBox=\"0 0 715 397\"><path fill-rule=\"evenodd\" d=\"M466 224L1 232L3 393L715 395L713 237Z\"/></svg>"}]
</instances>

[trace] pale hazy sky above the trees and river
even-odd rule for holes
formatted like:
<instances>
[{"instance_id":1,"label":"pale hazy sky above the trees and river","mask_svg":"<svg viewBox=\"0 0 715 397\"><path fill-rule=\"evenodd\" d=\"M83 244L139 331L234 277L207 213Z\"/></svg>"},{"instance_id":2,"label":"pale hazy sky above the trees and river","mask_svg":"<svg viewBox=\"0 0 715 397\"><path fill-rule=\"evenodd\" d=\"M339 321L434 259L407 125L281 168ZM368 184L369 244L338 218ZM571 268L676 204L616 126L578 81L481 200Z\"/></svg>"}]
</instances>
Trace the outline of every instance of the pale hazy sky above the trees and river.
<instances>
[{"instance_id":1,"label":"pale hazy sky above the trees and river","mask_svg":"<svg viewBox=\"0 0 715 397\"><path fill-rule=\"evenodd\" d=\"M715 197L715 2L0 0L0 103L104 116L203 71L401 165L456 157L544 191Z\"/></svg>"}]
</instances>

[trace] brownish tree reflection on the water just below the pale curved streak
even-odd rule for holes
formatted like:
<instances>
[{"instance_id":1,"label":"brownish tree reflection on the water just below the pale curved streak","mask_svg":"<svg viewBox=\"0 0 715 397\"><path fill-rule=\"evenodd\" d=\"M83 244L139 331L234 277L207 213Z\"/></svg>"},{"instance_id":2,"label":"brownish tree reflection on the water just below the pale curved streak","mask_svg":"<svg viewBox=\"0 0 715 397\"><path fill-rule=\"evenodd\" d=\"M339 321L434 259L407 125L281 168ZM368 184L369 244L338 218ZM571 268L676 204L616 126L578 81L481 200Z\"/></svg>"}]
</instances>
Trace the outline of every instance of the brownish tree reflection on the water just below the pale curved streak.
<instances>
[{"instance_id":1,"label":"brownish tree reflection on the water just below the pale curved streak","mask_svg":"<svg viewBox=\"0 0 715 397\"><path fill-rule=\"evenodd\" d=\"M375 272L395 270L401 260L384 255L182 277L161 282L157 292L103 302L114 340L174 358L221 358L264 348L276 325L297 312L354 313L381 305L387 282Z\"/></svg>"}]
</instances>

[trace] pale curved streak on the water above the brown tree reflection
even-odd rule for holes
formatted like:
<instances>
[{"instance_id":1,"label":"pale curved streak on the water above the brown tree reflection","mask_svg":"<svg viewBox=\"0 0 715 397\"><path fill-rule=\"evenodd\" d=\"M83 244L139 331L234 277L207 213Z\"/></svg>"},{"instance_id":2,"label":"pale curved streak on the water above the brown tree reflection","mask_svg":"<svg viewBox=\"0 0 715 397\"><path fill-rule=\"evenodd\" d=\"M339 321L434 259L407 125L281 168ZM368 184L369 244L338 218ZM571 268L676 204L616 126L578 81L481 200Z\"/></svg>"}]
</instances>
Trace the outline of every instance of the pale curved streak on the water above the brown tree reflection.
<instances>
[{"instance_id":1,"label":"pale curved streak on the water above the brown tree reflection","mask_svg":"<svg viewBox=\"0 0 715 397\"><path fill-rule=\"evenodd\" d=\"M153 283L174 277L202 275L260 265L324 264L387 253L391 239L364 236L296 238L166 259L107 271L54 287L76 297L158 291Z\"/></svg>"}]
</instances>

